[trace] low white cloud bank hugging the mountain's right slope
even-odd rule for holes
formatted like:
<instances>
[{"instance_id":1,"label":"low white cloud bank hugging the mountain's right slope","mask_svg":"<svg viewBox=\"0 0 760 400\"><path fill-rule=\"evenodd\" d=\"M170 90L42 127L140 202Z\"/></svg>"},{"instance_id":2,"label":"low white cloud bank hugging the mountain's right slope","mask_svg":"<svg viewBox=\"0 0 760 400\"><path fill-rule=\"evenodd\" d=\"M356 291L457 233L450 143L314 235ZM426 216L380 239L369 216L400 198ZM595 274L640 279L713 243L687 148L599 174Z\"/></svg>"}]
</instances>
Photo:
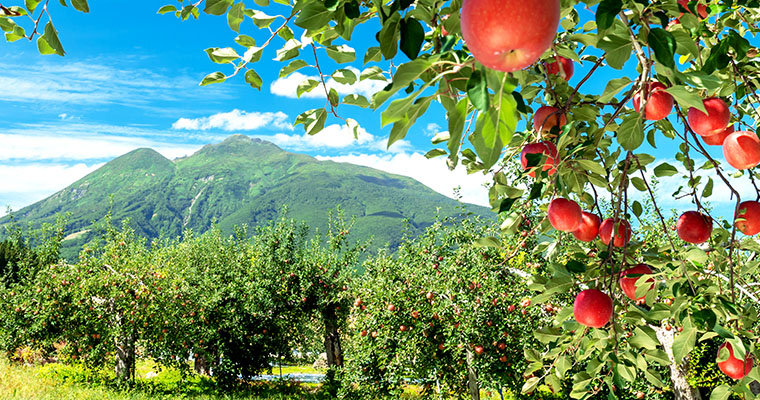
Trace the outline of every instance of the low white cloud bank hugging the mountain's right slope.
<instances>
[{"instance_id":1,"label":"low white cloud bank hugging the mountain's right slope","mask_svg":"<svg viewBox=\"0 0 760 400\"><path fill-rule=\"evenodd\" d=\"M408 176L451 198L454 198L454 189L459 187L462 201L490 207L488 189L483 184L490 183L491 178L483 174L468 175L461 165L454 171L450 171L444 158L427 159L422 153L352 154L337 157L318 156L317 158L364 165L392 174Z\"/></svg>"}]
</instances>

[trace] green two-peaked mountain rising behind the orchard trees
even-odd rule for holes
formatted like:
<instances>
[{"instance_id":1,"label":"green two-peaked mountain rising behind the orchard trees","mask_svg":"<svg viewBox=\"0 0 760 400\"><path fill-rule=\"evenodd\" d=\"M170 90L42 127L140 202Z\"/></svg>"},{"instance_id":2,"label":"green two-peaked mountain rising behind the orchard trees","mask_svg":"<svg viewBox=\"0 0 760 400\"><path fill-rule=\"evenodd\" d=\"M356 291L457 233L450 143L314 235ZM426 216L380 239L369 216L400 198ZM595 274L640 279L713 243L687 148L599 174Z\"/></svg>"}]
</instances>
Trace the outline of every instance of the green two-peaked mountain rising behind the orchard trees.
<instances>
[{"instance_id":1,"label":"green two-peaked mountain rising behind the orchard trees","mask_svg":"<svg viewBox=\"0 0 760 400\"><path fill-rule=\"evenodd\" d=\"M284 205L289 217L319 229L327 225L327 212L340 205L346 216L356 217L354 237L373 236L374 248L395 247L406 220L419 232L437 213L457 215L463 207L408 177L320 161L234 135L173 161L151 149L134 150L15 212L14 218L38 225L70 213L63 251L70 258L91 239L93 221L111 206L114 221L129 218L138 233L154 238L174 237L188 228L203 232L214 221L228 232L236 225L255 226L277 218ZM485 207L464 207L494 218ZM8 219L0 219L0 225Z\"/></svg>"}]
</instances>

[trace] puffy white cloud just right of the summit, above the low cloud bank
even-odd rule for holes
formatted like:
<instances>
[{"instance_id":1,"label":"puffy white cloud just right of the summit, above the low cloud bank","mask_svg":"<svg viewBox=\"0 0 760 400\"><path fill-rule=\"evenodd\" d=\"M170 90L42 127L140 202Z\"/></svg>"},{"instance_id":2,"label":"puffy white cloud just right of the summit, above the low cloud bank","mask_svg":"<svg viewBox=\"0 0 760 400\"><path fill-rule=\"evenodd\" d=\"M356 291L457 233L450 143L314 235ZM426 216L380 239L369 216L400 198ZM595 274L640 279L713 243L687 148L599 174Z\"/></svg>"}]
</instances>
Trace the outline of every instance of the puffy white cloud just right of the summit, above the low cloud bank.
<instances>
[{"instance_id":1,"label":"puffy white cloud just right of the summit, above the low cloud bank","mask_svg":"<svg viewBox=\"0 0 760 400\"><path fill-rule=\"evenodd\" d=\"M357 129L358 136L355 138L353 131L346 125L332 124L326 126L316 135L307 133L301 135L288 135L278 133L272 136L259 136L292 151L313 151L319 149L345 149L363 148L367 150L385 151L385 138L379 138L367 132L364 128ZM400 140L391 146L388 151L401 152L409 149L408 141Z\"/></svg>"}]
</instances>

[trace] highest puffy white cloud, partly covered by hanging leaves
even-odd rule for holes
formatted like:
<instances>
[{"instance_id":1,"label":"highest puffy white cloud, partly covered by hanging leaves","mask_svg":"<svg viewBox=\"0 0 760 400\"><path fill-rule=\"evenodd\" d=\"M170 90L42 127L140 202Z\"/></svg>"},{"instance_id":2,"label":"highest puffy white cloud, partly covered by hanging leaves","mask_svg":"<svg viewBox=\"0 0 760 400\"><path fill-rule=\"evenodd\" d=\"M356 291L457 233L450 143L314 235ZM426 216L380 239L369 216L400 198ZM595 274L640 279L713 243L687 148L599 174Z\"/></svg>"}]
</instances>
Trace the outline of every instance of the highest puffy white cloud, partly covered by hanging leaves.
<instances>
[{"instance_id":1,"label":"highest puffy white cloud, partly covered by hanging leaves","mask_svg":"<svg viewBox=\"0 0 760 400\"><path fill-rule=\"evenodd\" d=\"M360 72L356 68L348 68L352 70L356 76L358 77ZM302 82L305 82L307 79L314 79L316 81L319 81L319 76L308 76L304 75L300 72L294 72L290 74L289 76L285 78L277 79L276 81L272 82L272 84L269 86L269 91L272 92L272 94L275 94L277 96L284 96L289 97L291 99L298 98L296 95L296 89L298 88L298 85L300 85ZM366 97L368 100L369 98L374 94L382 90L386 85L388 85L387 82L384 81L377 81L372 79L365 79L363 81L358 81L354 85L345 85L338 82L335 82L332 78L327 79L327 88L332 89L334 88L335 91L338 92L340 95L347 95L347 94L360 94ZM301 95L301 98L324 98L325 97L325 89L320 83L317 87L312 89L310 92L306 92Z\"/></svg>"}]
</instances>

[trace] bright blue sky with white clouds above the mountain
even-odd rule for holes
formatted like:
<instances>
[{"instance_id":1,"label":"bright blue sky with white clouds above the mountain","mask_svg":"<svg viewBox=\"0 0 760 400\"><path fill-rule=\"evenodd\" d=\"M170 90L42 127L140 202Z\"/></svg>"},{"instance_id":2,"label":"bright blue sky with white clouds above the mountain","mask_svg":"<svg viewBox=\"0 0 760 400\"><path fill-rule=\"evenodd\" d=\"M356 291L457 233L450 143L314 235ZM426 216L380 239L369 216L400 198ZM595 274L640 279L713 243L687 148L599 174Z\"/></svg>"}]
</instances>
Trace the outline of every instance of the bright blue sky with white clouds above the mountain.
<instances>
[{"instance_id":1,"label":"bright blue sky with white clouds above the mountain","mask_svg":"<svg viewBox=\"0 0 760 400\"><path fill-rule=\"evenodd\" d=\"M210 72L230 72L228 66L213 64L203 51L236 46L237 34L226 18L201 14L199 20L182 22L171 14L156 14L161 6L156 2L91 1L90 14L54 3L51 14L65 57L41 56L34 43L25 40L0 43L0 107L6 116L0 130L0 205L19 209L41 200L138 147L152 147L175 158L236 133L271 140L289 151L409 175L449 196L453 187L461 186L466 201L487 203L482 184L488 177L468 176L461 169L449 172L442 158L423 157L432 148L430 138L446 126L439 106L431 107L407 139L387 151L390 127L380 127L379 113L357 107L342 106L340 114L360 123L358 141L335 119L328 119L325 132L310 137L292 122L301 111L324 106L324 95L314 90L296 99L295 87L304 75L316 71L304 68L278 80L282 65L272 59L279 46L267 48L255 66L264 80L261 91L250 88L241 76L198 86ZM274 15L276 10L266 12ZM581 13L584 19L593 17L589 10ZM364 40L351 44L358 60L376 43L373 28L360 28L355 38ZM241 33L259 42L268 37L250 19ZM298 38L301 32L295 34ZM305 50L306 60L312 62L310 48ZM319 57L324 71L334 70L324 53ZM356 66L361 68L360 62ZM589 63L576 66L571 85L590 67ZM623 71L605 70L583 91L601 93L610 79L635 76L635 63L629 62ZM382 86L364 81L359 92L369 94ZM659 138L662 144L653 154L672 160L676 144L664 140ZM663 186L672 190L678 179L669 178ZM715 205L727 210L730 201ZM664 206L690 208L688 200L666 200ZM4 212L3 207L0 215Z\"/></svg>"}]
</instances>

